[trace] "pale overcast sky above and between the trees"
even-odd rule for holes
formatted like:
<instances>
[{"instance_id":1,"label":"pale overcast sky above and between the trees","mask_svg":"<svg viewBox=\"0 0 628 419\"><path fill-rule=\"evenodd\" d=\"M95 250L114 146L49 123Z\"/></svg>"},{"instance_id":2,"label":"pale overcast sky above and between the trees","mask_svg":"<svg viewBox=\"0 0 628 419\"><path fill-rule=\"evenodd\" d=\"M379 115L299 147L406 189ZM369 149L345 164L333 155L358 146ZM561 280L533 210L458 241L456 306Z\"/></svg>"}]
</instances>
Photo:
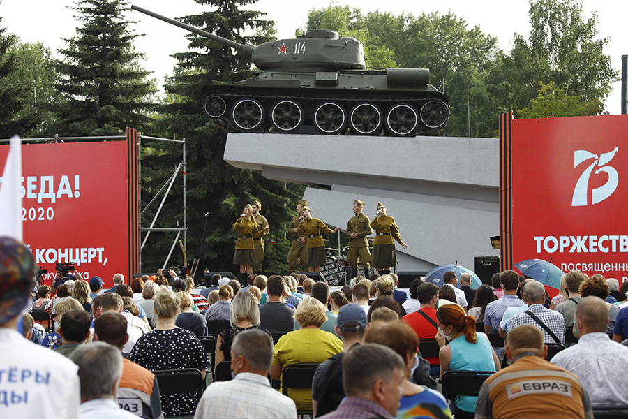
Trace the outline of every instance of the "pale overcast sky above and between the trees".
<instances>
[{"instance_id":1,"label":"pale overcast sky above and between the trees","mask_svg":"<svg viewBox=\"0 0 628 419\"><path fill-rule=\"evenodd\" d=\"M198 13L204 7L193 0L131 0L131 3L173 18ZM529 5L525 0L510 2L441 0L433 3L345 0L336 3L359 7L364 13L369 10L380 10L389 11L394 15L401 13L420 15L431 11L444 14L451 10L457 17L463 18L469 27L479 25L484 34L497 37L500 48L505 52L510 52L515 33L526 38L530 33ZM382 3L385 6L382 6ZM75 11L68 9L68 6L73 5L75 1L72 0L1 0L1 26L20 36L24 42L43 41L56 54L57 49L67 46L63 38L75 36L75 28L80 26L73 17ZM305 27L308 10L311 10L313 5L315 8L323 8L329 3L260 0L249 8L261 10L267 13L270 19L275 20L278 38L293 38L296 29ZM611 43L605 52L611 55L613 68L617 70L621 70L622 54L628 54L625 30L627 9L625 0L584 1L585 17L597 11L599 37L611 37ZM137 24L133 25L137 34L146 34L135 43L137 52L146 54L144 68L153 71L153 77L159 80L160 85L163 84L164 76L172 73L172 68L176 64L170 55L187 49L188 43L184 38L187 31L138 12L129 12L128 18L137 21ZM612 115L621 112L620 89L621 83L615 83L613 92L605 103L606 110Z\"/></svg>"}]
</instances>

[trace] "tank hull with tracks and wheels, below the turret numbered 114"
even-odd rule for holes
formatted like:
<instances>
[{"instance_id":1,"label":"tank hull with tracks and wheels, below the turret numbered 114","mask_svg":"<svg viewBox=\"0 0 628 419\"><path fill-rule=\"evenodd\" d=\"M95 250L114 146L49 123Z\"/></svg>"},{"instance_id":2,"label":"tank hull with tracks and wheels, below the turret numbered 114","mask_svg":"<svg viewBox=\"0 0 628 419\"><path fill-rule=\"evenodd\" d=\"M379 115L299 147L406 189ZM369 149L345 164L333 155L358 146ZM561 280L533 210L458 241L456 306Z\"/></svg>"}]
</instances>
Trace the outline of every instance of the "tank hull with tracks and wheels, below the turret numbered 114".
<instances>
[{"instance_id":1,"label":"tank hull with tracks and wheels, below the turret numbered 114","mask_svg":"<svg viewBox=\"0 0 628 419\"><path fill-rule=\"evenodd\" d=\"M425 69L296 73L268 71L207 84L195 99L227 132L437 135L449 96Z\"/></svg>"}]
</instances>

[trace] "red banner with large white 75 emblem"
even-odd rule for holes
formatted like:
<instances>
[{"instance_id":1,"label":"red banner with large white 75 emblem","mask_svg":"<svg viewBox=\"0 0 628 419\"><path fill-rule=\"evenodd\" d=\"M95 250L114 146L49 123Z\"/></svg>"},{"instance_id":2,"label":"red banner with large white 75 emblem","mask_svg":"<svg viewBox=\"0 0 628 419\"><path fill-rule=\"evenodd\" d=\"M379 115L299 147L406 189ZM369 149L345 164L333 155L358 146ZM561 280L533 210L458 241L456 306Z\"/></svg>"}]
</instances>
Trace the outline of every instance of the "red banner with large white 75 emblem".
<instances>
[{"instance_id":1,"label":"red banner with large white 75 emblem","mask_svg":"<svg viewBox=\"0 0 628 419\"><path fill-rule=\"evenodd\" d=\"M628 115L512 122L513 261L628 280Z\"/></svg>"}]
</instances>

